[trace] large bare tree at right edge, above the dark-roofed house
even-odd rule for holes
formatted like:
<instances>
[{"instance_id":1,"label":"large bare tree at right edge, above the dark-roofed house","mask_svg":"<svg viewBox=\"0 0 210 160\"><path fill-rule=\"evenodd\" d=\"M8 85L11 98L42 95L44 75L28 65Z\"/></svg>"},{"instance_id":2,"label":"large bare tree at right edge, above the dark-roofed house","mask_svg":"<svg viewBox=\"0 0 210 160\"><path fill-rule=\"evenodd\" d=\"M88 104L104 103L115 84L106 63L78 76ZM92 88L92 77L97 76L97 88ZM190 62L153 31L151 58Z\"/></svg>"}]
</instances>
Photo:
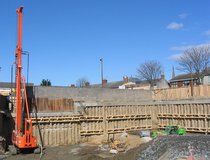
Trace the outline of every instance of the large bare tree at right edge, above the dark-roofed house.
<instances>
[{"instance_id":1,"label":"large bare tree at right edge, above the dark-roofed house","mask_svg":"<svg viewBox=\"0 0 210 160\"><path fill-rule=\"evenodd\" d=\"M198 83L207 72L209 65L210 49L209 46L193 47L184 51L184 53L177 59L180 71L194 74L198 79Z\"/></svg>"}]
</instances>

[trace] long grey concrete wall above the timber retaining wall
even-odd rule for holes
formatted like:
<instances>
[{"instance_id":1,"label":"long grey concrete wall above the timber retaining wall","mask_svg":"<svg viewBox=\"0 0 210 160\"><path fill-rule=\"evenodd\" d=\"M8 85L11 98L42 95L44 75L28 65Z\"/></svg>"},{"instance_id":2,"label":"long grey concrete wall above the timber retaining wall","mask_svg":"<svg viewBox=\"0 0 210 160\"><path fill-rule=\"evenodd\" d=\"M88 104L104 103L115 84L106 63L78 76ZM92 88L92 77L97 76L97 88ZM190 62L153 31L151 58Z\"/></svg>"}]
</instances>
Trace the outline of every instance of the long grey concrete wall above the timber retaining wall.
<instances>
[{"instance_id":1,"label":"long grey concrete wall above the timber retaining wall","mask_svg":"<svg viewBox=\"0 0 210 160\"><path fill-rule=\"evenodd\" d=\"M151 101L152 92L143 90L118 90L105 88L34 87L35 98L72 98L86 102L140 102Z\"/></svg>"}]
</instances>

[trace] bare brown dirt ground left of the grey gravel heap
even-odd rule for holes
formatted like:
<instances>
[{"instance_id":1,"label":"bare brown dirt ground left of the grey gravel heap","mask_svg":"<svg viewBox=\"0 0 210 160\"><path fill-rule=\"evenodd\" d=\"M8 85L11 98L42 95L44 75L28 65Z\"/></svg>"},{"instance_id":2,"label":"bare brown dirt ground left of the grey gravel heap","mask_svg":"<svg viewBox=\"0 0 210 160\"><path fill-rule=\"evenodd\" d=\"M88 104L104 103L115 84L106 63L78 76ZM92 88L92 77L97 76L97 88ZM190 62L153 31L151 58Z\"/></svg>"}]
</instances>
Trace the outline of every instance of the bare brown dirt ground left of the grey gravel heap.
<instances>
[{"instance_id":1,"label":"bare brown dirt ground left of the grey gravel heap","mask_svg":"<svg viewBox=\"0 0 210 160\"><path fill-rule=\"evenodd\" d=\"M115 135L115 139L122 139L123 134ZM118 154L111 154L110 145L105 143L103 136L93 136L86 143L77 145L66 145L57 147L46 147L43 151L42 160L127 160L135 159L139 153L140 145L143 146L146 140L139 135L128 134L123 137L126 144L125 151ZM135 153L135 154L134 154ZM36 154L18 154L15 156L4 155L8 160L40 159ZM2 156L2 158L4 158ZM0 156L1 159L1 156Z\"/></svg>"}]
</instances>

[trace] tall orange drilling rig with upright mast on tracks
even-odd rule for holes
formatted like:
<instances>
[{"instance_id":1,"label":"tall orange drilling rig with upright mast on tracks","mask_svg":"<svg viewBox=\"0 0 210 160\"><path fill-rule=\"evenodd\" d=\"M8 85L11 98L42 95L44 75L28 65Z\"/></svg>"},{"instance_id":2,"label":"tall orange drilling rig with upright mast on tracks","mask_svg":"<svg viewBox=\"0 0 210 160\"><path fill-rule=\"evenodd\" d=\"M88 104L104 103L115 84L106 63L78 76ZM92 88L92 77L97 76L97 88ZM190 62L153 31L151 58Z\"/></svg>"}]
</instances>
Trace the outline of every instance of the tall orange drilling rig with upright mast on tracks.
<instances>
[{"instance_id":1,"label":"tall orange drilling rig with upright mast on tracks","mask_svg":"<svg viewBox=\"0 0 210 160\"><path fill-rule=\"evenodd\" d=\"M17 48L15 53L16 58L16 121L15 129L12 133L13 148L10 147L12 154L17 154L18 151L24 149L34 149L35 152L39 152L37 149L36 137L32 132L32 121L30 118L27 93L25 86L25 79L22 76L22 15L23 7L21 6L17 10L18 13L18 37ZM25 102L24 102L24 101ZM26 108L26 115L23 114L23 107ZM12 149L11 149L12 148Z\"/></svg>"}]
</instances>

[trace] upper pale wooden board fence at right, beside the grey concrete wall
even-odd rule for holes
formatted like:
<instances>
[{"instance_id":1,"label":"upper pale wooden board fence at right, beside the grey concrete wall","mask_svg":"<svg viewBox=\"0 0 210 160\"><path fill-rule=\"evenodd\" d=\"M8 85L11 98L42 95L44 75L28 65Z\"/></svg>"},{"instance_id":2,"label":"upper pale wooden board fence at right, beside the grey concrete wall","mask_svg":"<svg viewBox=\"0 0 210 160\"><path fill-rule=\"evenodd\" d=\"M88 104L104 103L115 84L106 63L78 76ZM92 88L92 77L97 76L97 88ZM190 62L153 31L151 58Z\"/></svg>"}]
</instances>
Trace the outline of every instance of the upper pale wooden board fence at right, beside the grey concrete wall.
<instances>
[{"instance_id":1,"label":"upper pale wooden board fence at right, beside the grey concrete wall","mask_svg":"<svg viewBox=\"0 0 210 160\"><path fill-rule=\"evenodd\" d=\"M191 94L193 90L193 96ZM167 88L167 89L156 89L153 91L154 100L180 100L189 98L209 98L210 97L210 86L199 85L193 86L193 89L189 87L182 88Z\"/></svg>"}]
</instances>

